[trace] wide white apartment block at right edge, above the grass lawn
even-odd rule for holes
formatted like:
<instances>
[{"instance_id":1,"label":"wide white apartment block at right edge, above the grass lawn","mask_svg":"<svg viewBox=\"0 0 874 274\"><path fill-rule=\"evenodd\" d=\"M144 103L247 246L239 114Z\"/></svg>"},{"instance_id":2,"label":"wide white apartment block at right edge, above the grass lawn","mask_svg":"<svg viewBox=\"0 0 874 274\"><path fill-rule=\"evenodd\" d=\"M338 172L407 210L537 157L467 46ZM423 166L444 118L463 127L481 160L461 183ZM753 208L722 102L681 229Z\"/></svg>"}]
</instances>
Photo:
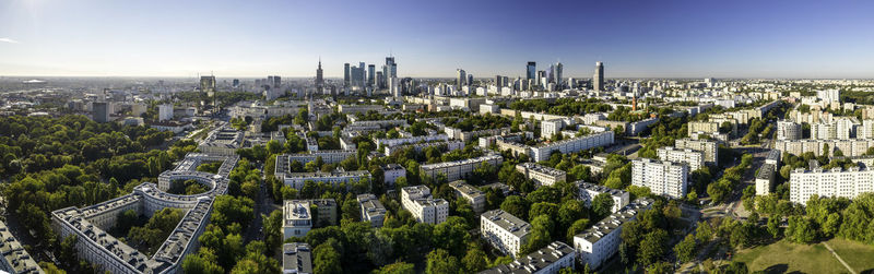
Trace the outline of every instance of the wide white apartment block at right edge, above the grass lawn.
<instances>
[{"instance_id":1,"label":"wide white apartment block at right edge, above the grass lawn","mask_svg":"<svg viewBox=\"0 0 874 274\"><path fill-rule=\"evenodd\" d=\"M796 168L790 175L789 183L789 200L799 204L806 204L813 194L853 199L861 193L874 191L874 169Z\"/></svg>"}]
</instances>

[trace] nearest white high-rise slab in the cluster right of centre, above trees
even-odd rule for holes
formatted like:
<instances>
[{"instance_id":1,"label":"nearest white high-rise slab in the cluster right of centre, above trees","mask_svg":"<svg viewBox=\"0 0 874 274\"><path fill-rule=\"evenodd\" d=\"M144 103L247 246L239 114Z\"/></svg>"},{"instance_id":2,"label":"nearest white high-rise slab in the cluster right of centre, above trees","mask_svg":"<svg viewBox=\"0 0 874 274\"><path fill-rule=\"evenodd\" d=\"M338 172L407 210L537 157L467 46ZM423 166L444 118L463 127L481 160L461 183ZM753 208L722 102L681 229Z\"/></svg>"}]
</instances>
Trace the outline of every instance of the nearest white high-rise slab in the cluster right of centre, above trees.
<instances>
[{"instance_id":1,"label":"nearest white high-rise slab in the cluster right of centre, above trees","mask_svg":"<svg viewBox=\"0 0 874 274\"><path fill-rule=\"evenodd\" d=\"M631 160L631 184L648 187L650 192L673 199L686 196L689 166L649 158Z\"/></svg>"}]
</instances>

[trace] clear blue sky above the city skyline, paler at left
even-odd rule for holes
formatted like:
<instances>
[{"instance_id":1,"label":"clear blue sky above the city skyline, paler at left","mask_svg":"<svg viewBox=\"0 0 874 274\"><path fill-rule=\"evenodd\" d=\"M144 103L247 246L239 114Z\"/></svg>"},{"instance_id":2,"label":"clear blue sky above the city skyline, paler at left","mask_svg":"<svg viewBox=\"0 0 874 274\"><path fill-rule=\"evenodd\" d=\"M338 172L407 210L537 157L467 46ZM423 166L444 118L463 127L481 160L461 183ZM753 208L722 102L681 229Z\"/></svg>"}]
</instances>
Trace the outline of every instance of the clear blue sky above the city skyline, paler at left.
<instances>
[{"instance_id":1,"label":"clear blue sky above the city skyline, paler at left","mask_svg":"<svg viewBox=\"0 0 874 274\"><path fill-rule=\"evenodd\" d=\"M874 1L0 0L0 75L874 78Z\"/></svg>"}]
</instances>

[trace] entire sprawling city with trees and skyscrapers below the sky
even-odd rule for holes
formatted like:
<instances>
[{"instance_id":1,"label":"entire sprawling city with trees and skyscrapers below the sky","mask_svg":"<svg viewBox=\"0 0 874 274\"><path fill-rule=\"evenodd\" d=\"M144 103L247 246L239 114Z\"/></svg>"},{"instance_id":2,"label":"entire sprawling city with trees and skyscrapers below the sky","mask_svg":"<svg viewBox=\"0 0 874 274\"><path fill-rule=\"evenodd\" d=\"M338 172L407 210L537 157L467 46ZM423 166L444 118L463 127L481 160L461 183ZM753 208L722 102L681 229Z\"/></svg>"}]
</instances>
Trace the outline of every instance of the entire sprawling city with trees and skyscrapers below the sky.
<instances>
[{"instance_id":1,"label":"entire sprawling city with trees and skyscrapers below the sky","mask_svg":"<svg viewBox=\"0 0 874 274\"><path fill-rule=\"evenodd\" d=\"M321 65L0 78L0 270L874 271L874 81Z\"/></svg>"}]
</instances>

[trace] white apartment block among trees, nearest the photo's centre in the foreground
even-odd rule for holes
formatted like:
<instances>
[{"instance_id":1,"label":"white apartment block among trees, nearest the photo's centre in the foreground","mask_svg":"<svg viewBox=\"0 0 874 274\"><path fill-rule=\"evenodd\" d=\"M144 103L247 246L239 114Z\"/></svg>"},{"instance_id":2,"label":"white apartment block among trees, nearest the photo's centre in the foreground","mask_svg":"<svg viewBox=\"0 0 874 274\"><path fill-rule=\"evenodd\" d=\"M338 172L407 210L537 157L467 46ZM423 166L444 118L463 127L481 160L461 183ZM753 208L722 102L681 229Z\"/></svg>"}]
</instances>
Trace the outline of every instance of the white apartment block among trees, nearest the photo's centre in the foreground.
<instances>
[{"instance_id":1,"label":"white apartment block among trees, nearest the photo's centre in the foreground","mask_svg":"<svg viewBox=\"0 0 874 274\"><path fill-rule=\"evenodd\" d=\"M420 223L436 225L446 222L449 216L449 202L434 199L430 189L425 186L401 189L401 205Z\"/></svg>"}]
</instances>

